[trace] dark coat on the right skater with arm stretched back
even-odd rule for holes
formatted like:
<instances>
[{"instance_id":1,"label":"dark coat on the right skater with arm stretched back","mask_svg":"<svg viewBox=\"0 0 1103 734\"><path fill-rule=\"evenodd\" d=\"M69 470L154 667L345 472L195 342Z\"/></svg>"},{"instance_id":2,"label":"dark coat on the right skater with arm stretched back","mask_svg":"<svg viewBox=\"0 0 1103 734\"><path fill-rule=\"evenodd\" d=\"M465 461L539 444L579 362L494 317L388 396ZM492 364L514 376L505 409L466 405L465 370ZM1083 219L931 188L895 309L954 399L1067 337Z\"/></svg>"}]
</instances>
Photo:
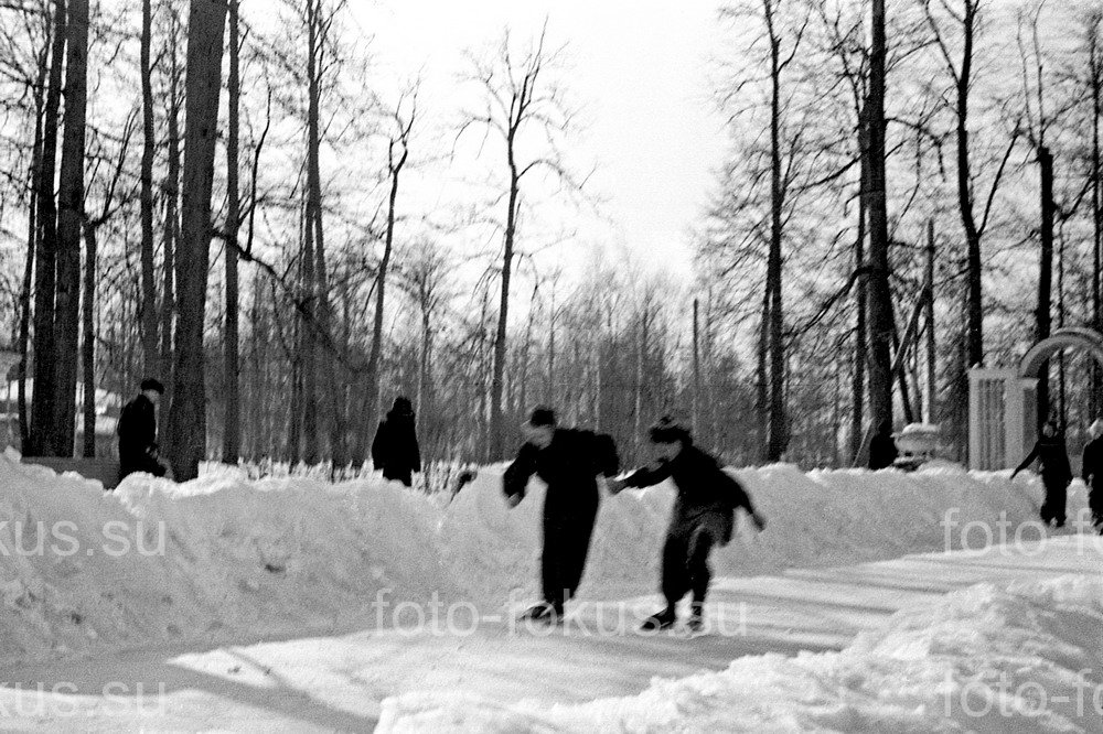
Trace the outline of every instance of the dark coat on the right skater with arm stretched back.
<instances>
[{"instance_id":1,"label":"dark coat on the right skater with arm stretched back","mask_svg":"<svg viewBox=\"0 0 1103 734\"><path fill-rule=\"evenodd\" d=\"M715 456L697 446L687 445L671 461L662 461L634 472L625 481L629 487L650 487L671 479L677 487L671 533L689 527L702 516L716 514L724 518L722 542L731 540L736 509L742 507L753 515L754 508L742 485L721 468Z\"/></svg>"}]
</instances>

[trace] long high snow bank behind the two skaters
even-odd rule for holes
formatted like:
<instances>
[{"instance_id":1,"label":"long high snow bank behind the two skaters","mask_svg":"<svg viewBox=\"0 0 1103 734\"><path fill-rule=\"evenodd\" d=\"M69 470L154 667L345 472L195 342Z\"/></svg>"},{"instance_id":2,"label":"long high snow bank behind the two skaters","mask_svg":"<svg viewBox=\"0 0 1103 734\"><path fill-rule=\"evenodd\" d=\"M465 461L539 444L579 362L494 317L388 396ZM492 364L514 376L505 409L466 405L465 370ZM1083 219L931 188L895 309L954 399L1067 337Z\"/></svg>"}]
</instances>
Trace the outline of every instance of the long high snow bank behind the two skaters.
<instances>
[{"instance_id":1,"label":"long high snow bank behind the two skaters","mask_svg":"<svg viewBox=\"0 0 1103 734\"><path fill-rule=\"evenodd\" d=\"M453 501L396 484L248 482L225 472L175 485L98 484L0 456L0 661L149 644L225 641L363 626L392 602L499 607L535 594L540 492L508 510L501 468ZM941 468L903 475L737 472L769 520L714 558L760 575L978 547L1037 517L1037 482ZM602 501L581 594L647 593L668 487ZM1070 515L1084 506L1073 485ZM1037 538L1038 529L1028 535ZM1010 539L1010 538L1008 538Z\"/></svg>"}]
</instances>

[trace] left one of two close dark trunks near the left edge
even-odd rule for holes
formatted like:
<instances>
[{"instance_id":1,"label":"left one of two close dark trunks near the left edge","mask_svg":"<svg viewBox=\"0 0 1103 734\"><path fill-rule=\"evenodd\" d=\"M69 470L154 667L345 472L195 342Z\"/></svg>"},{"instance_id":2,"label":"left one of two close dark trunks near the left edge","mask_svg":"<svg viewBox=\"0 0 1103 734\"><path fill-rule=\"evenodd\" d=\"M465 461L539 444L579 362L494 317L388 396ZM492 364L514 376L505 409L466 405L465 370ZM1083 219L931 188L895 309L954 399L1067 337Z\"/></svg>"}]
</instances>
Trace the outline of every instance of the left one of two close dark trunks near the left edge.
<instances>
[{"instance_id":1,"label":"left one of two close dark trunks near the left edge","mask_svg":"<svg viewBox=\"0 0 1103 734\"><path fill-rule=\"evenodd\" d=\"M42 123L42 164L39 175L39 247L34 265L34 393L31 397L29 456L49 454L54 434L54 301L57 290L57 205L54 173L57 164L57 117L65 63L65 0L55 0L54 37L50 52L50 89Z\"/></svg>"}]
</instances>

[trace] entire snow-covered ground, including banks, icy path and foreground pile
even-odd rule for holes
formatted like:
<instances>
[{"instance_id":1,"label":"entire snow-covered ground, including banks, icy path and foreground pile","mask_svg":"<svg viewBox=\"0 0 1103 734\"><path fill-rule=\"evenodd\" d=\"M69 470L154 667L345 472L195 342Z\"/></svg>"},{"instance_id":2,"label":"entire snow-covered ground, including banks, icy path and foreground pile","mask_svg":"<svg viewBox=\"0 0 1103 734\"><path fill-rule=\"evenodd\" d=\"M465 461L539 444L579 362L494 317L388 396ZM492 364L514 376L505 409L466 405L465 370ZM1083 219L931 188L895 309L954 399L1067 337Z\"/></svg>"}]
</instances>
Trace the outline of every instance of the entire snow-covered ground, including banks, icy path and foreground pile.
<instances>
[{"instance_id":1,"label":"entire snow-covered ground, including banks, icy path and foreground pile","mask_svg":"<svg viewBox=\"0 0 1103 734\"><path fill-rule=\"evenodd\" d=\"M684 639L634 630L667 487L604 498L568 624L517 628L540 497L500 473L105 495L0 458L0 728L1103 731L1103 544L1047 537L1035 481L739 471L769 526Z\"/></svg>"}]
</instances>

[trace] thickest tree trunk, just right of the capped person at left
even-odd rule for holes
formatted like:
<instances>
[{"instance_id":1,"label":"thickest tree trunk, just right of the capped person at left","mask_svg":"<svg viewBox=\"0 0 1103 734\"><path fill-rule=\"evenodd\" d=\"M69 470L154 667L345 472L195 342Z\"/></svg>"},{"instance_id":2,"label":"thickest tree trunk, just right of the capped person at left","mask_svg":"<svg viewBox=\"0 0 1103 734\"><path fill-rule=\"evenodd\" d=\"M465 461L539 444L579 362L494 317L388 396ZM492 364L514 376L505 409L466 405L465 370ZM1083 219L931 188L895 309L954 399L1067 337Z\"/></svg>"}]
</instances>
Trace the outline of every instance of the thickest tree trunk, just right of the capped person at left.
<instances>
[{"instance_id":1,"label":"thickest tree trunk, just right of the capped person at left","mask_svg":"<svg viewBox=\"0 0 1103 734\"><path fill-rule=\"evenodd\" d=\"M178 481L199 476L206 455L203 321L211 259L211 188L222 91L226 0L191 0L185 87L183 226L178 280L175 390L169 418Z\"/></svg>"}]
</instances>

